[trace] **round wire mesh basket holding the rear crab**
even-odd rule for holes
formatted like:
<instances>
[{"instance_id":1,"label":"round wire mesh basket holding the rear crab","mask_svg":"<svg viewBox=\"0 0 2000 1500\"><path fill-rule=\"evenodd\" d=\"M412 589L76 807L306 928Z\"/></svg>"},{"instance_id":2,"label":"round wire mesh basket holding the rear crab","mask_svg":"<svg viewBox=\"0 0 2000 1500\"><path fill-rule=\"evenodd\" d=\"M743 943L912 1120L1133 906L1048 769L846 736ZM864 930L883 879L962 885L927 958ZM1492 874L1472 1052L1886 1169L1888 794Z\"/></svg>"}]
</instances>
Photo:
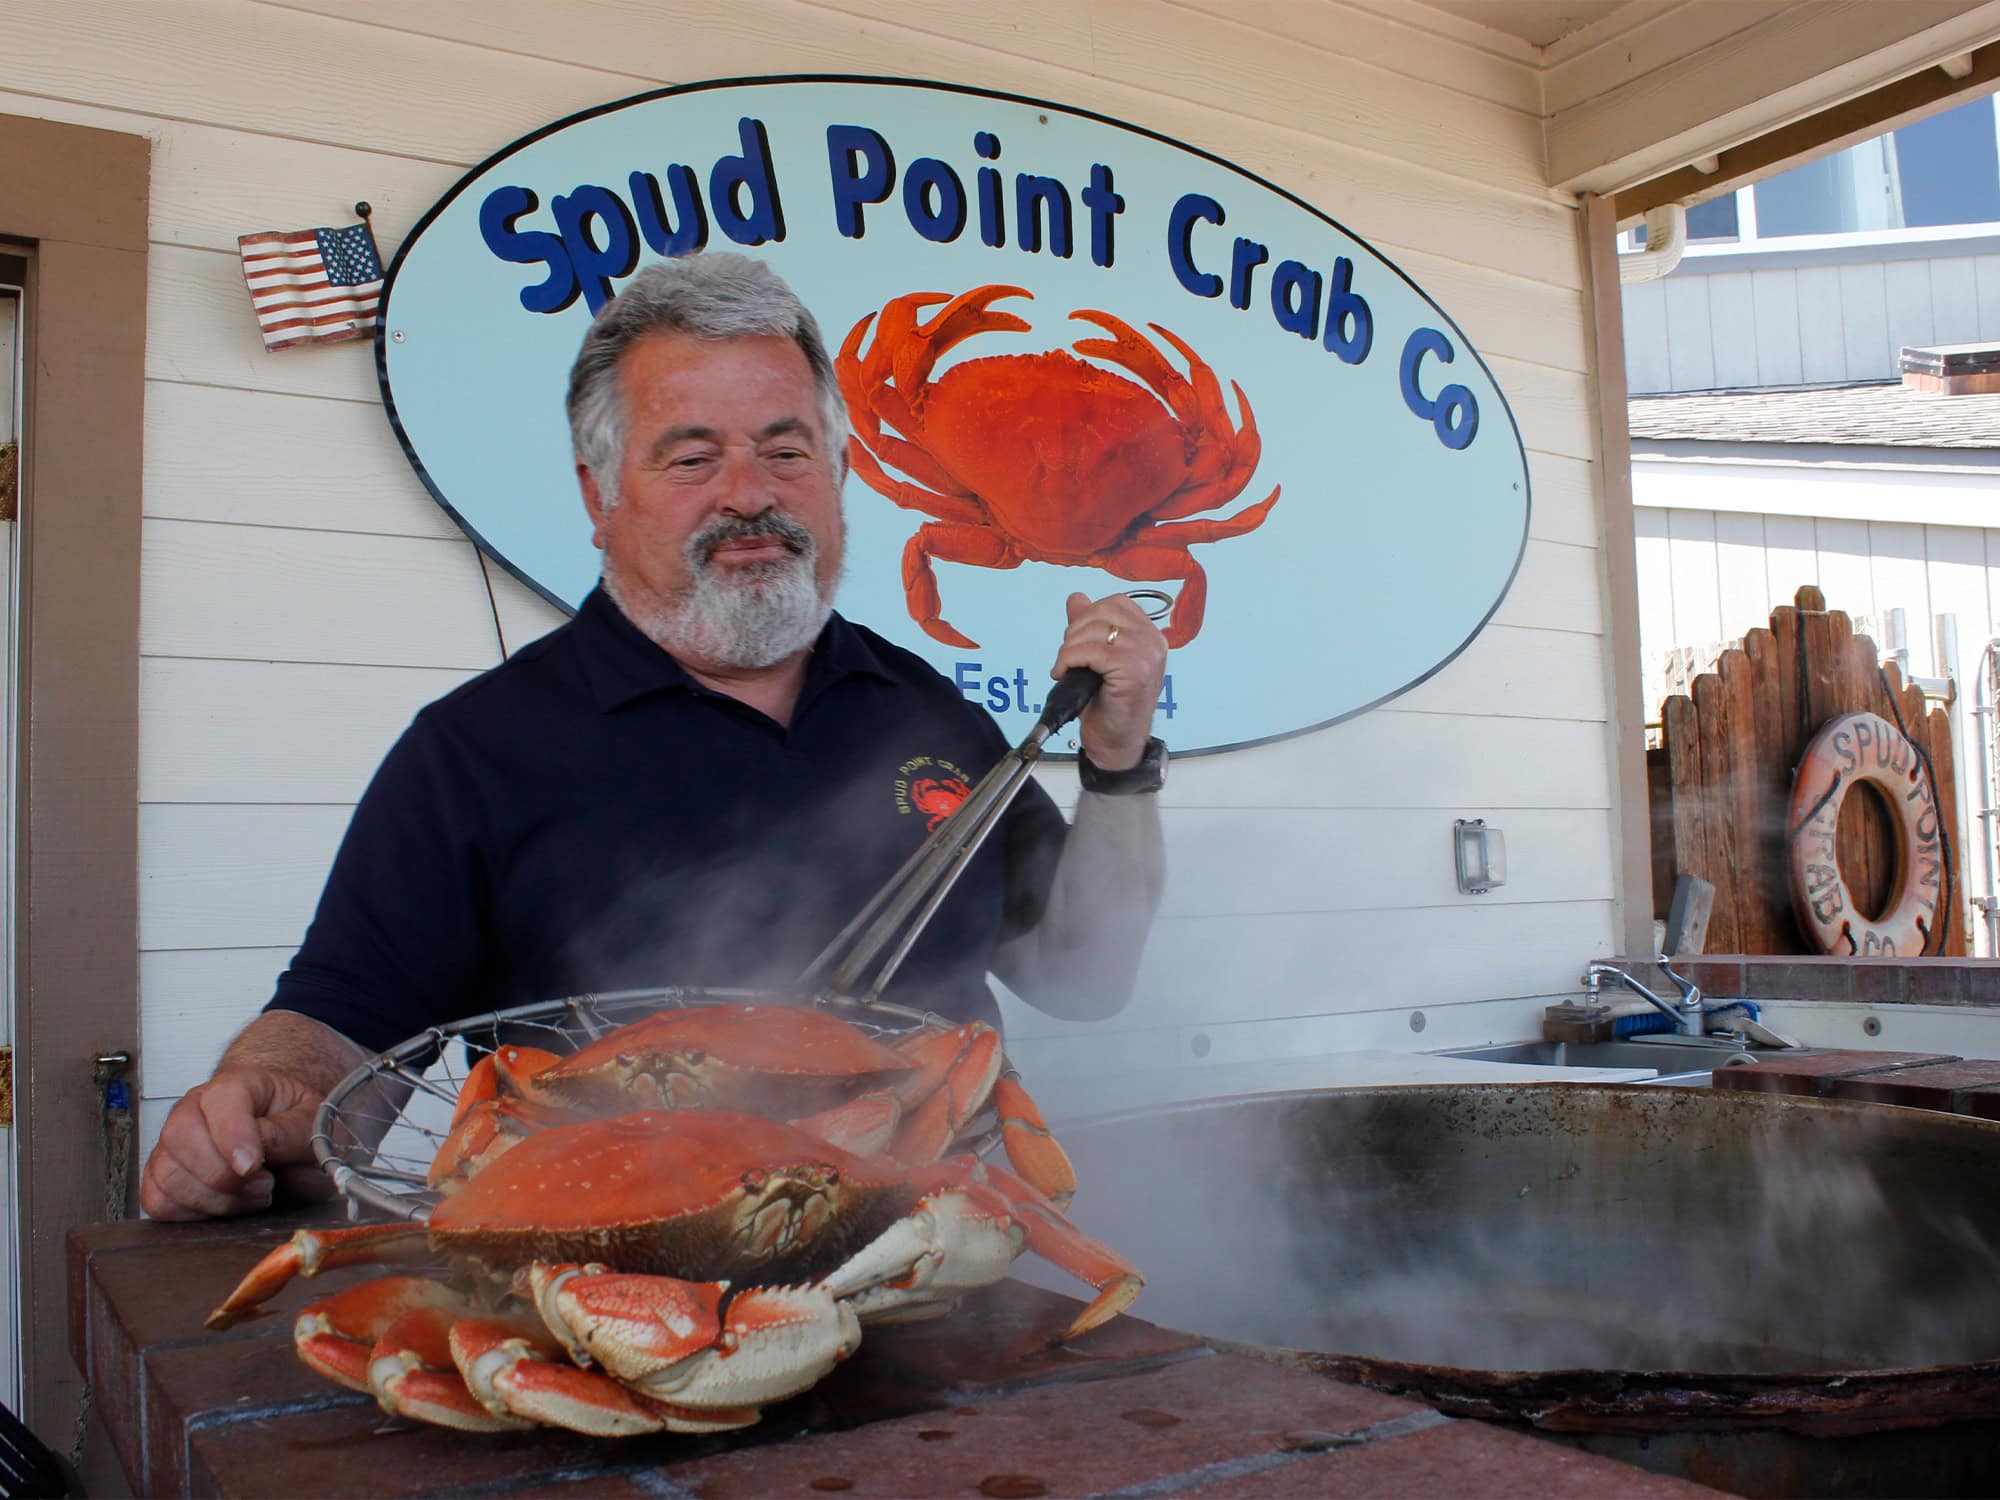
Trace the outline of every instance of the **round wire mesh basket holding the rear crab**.
<instances>
[{"instance_id":1,"label":"round wire mesh basket holding the rear crab","mask_svg":"<svg viewBox=\"0 0 2000 1500\"><path fill-rule=\"evenodd\" d=\"M450 1130L466 1074L478 1058L500 1046L570 1054L660 1010L726 1004L810 1004L880 1040L954 1024L884 1000L726 988L618 990L490 1010L450 1026L432 1026L342 1078L320 1104L312 1152L348 1200L350 1214L372 1208L396 1218L428 1220L440 1194L428 1186L426 1174ZM984 1152L998 1130L978 1128L978 1122L974 1126L960 1148Z\"/></svg>"}]
</instances>

